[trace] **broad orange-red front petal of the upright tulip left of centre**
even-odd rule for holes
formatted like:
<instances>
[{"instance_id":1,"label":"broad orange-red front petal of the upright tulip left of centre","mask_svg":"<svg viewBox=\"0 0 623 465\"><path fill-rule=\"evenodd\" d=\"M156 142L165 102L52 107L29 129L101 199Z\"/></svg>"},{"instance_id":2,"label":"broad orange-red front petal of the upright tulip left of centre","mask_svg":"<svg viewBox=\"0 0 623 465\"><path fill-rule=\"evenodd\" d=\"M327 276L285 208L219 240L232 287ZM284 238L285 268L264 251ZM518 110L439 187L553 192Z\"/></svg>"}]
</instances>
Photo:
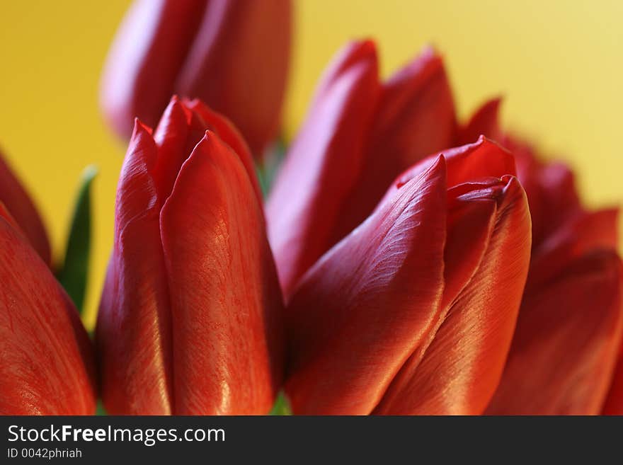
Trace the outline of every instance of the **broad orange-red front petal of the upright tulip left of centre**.
<instances>
[{"instance_id":1,"label":"broad orange-red front petal of the upright tulip left of centre","mask_svg":"<svg viewBox=\"0 0 623 465\"><path fill-rule=\"evenodd\" d=\"M282 298L246 169L215 133L161 212L177 414L264 414L282 379Z\"/></svg>"}]
</instances>

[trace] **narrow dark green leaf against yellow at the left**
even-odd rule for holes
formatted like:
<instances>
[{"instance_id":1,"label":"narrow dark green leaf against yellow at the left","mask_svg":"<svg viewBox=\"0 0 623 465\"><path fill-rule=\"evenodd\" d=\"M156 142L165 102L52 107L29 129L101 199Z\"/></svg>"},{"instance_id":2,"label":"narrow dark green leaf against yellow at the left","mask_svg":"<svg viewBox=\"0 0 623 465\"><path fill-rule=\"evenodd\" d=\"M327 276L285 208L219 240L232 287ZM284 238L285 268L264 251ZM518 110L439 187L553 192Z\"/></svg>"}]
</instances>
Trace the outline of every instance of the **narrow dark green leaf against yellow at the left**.
<instances>
[{"instance_id":1,"label":"narrow dark green leaf against yellow at the left","mask_svg":"<svg viewBox=\"0 0 623 465\"><path fill-rule=\"evenodd\" d=\"M80 314L84 306L88 256L91 250L91 184L97 172L97 168L91 165L82 173L74 216L67 237L65 258L62 268L57 272L59 282L74 301Z\"/></svg>"}]
</instances>

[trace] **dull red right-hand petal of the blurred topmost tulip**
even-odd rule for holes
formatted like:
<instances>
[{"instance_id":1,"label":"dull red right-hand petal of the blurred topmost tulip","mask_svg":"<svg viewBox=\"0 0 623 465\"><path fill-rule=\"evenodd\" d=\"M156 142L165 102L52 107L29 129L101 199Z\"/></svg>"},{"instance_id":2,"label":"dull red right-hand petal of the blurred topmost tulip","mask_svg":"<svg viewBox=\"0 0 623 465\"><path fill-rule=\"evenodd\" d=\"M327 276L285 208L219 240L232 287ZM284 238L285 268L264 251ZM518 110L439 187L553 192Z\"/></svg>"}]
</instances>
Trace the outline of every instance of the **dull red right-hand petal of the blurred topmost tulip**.
<instances>
[{"instance_id":1,"label":"dull red right-hand petal of the blurred topmost tulip","mask_svg":"<svg viewBox=\"0 0 623 465\"><path fill-rule=\"evenodd\" d=\"M176 83L231 118L257 155L279 130L291 10L290 0L208 1Z\"/></svg>"}]
</instances>

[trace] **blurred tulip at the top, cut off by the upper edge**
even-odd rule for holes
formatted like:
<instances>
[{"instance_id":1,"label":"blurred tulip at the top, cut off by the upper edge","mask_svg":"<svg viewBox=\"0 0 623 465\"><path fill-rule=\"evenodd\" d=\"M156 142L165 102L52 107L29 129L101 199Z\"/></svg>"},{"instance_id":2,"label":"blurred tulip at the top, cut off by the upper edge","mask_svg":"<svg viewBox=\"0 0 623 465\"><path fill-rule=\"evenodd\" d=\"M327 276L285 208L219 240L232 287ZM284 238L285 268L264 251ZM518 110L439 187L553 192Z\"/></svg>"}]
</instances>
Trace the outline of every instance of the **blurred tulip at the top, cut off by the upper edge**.
<instances>
[{"instance_id":1,"label":"blurred tulip at the top, cut off by the upper edge","mask_svg":"<svg viewBox=\"0 0 623 465\"><path fill-rule=\"evenodd\" d=\"M230 117L261 154L279 130L290 0L137 0L110 50L101 106L122 137L153 126L173 93Z\"/></svg>"}]
</instances>

